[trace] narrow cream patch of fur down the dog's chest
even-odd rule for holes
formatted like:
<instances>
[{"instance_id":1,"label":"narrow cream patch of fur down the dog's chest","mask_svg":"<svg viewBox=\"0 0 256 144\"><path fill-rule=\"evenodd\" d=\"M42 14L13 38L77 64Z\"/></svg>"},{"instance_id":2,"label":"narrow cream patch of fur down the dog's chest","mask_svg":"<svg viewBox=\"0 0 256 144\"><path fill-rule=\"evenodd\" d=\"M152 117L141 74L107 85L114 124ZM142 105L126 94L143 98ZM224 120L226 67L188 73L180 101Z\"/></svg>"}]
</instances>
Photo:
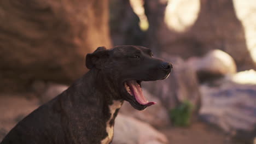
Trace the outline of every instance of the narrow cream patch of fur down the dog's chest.
<instances>
[{"instance_id":1,"label":"narrow cream patch of fur down the dog's chest","mask_svg":"<svg viewBox=\"0 0 256 144\"><path fill-rule=\"evenodd\" d=\"M111 124L111 121L113 121L114 118L114 114L115 112L120 109L120 107L122 106L123 103L121 103L121 101L119 100L114 100L112 105L109 105L109 112L110 112L110 118L108 119L106 125L106 131L108 136L105 137L102 141L101 144L105 144L105 143L110 143L113 139L113 134L114 134L114 125Z\"/></svg>"}]
</instances>

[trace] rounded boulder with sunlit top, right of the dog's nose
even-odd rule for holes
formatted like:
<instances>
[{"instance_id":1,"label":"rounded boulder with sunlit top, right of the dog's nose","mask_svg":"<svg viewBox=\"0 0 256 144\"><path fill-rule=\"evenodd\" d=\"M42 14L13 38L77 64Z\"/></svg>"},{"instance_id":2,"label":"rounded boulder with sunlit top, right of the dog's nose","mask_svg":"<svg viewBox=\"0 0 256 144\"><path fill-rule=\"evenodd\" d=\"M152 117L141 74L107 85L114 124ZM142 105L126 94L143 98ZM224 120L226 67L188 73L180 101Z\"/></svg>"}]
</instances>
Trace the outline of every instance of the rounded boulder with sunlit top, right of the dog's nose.
<instances>
[{"instance_id":1,"label":"rounded boulder with sunlit top, right of the dog's nose","mask_svg":"<svg viewBox=\"0 0 256 144\"><path fill-rule=\"evenodd\" d=\"M192 57L187 62L195 69L200 82L236 73L234 59L222 50L211 50L202 58Z\"/></svg>"}]
</instances>

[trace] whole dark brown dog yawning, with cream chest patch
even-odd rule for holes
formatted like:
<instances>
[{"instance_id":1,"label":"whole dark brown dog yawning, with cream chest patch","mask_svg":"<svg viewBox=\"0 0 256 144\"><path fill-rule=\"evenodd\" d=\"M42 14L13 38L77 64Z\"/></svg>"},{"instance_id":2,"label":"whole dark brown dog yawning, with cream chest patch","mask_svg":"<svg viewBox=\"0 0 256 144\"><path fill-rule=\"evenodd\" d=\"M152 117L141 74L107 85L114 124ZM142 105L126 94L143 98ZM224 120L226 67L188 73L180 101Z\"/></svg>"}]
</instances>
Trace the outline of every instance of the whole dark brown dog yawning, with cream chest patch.
<instances>
[{"instance_id":1,"label":"whole dark brown dog yawning, with cream chest patch","mask_svg":"<svg viewBox=\"0 0 256 144\"><path fill-rule=\"evenodd\" d=\"M172 65L142 46L98 49L86 56L90 71L66 91L19 122L5 143L110 143L124 100L137 110L155 104L141 82L166 79Z\"/></svg>"}]
</instances>

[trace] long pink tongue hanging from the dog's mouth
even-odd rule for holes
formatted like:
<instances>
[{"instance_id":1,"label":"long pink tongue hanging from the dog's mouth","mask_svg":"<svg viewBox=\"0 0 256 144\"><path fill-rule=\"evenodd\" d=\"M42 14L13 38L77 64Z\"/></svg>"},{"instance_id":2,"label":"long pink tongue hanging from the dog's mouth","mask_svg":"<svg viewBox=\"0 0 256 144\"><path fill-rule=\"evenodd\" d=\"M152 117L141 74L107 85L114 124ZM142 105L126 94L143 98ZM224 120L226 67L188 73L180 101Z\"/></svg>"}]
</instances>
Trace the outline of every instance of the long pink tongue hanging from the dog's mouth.
<instances>
[{"instance_id":1,"label":"long pink tongue hanging from the dog's mouth","mask_svg":"<svg viewBox=\"0 0 256 144\"><path fill-rule=\"evenodd\" d=\"M127 81L127 85L131 88L131 91L139 104L150 106L156 104L155 102L148 102L142 93L141 87L135 80Z\"/></svg>"}]
</instances>

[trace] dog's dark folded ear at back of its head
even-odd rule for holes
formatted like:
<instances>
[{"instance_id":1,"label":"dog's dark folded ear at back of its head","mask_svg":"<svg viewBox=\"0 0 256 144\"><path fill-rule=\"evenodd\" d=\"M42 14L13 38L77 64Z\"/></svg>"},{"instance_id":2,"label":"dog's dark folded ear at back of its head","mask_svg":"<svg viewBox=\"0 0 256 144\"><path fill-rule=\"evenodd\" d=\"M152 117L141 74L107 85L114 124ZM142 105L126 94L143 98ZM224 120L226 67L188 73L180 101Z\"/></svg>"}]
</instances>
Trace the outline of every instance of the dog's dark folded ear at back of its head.
<instances>
[{"instance_id":1,"label":"dog's dark folded ear at back of its head","mask_svg":"<svg viewBox=\"0 0 256 144\"><path fill-rule=\"evenodd\" d=\"M108 56L108 50L106 47L101 46L98 47L94 52L88 53L85 58L85 65L88 69L92 69L96 67L97 69L101 69L101 66Z\"/></svg>"}]
</instances>

